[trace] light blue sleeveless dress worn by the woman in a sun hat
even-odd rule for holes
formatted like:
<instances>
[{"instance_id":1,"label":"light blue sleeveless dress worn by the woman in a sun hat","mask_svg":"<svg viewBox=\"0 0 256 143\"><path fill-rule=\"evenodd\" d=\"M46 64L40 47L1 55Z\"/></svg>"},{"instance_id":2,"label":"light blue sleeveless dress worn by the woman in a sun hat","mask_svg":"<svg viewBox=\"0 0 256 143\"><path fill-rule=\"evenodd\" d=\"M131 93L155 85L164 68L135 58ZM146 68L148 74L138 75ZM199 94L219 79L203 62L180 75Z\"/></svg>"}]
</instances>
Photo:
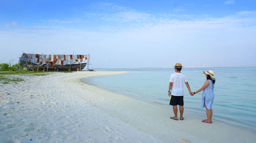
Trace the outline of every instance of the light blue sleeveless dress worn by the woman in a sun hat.
<instances>
[{"instance_id":1,"label":"light blue sleeveless dress worn by the woman in a sun hat","mask_svg":"<svg viewBox=\"0 0 256 143\"><path fill-rule=\"evenodd\" d=\"M207 80L210 82L210 84L203 90L202 108L206 106L207 109L210 110L212 108L212 103L214 102L214 84L212 84L212 80Z\"/></svg>"}]
</instances>

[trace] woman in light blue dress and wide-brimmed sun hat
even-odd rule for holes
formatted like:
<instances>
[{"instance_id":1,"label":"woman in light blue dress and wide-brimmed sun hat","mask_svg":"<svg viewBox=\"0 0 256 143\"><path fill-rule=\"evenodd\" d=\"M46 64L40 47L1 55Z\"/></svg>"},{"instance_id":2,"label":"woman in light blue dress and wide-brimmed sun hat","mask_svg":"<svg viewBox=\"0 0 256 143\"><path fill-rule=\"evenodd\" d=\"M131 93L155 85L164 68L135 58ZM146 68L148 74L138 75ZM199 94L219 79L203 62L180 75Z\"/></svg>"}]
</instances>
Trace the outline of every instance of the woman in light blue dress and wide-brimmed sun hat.
<instances>
[{"instance_id":1,"label":"woman in light blue dress and wide-brimmed sun hat","mask_svg":"<svg viewBox=\"0 0 256 143\"><path fill-rule=\"evenodd\" d=\"M191 93L191 95L195 95L203 90L202 95L202 108L205 107L206 109L206 116L207 119L203 120L204 123L212 123L212 102L214 102L214 85L215 85L215 78L214 78L214 71L209 70L207 72L203 71L206 75L206 81L201 89L197 90L196 92Z\"/></svg>"}]
</instances>

